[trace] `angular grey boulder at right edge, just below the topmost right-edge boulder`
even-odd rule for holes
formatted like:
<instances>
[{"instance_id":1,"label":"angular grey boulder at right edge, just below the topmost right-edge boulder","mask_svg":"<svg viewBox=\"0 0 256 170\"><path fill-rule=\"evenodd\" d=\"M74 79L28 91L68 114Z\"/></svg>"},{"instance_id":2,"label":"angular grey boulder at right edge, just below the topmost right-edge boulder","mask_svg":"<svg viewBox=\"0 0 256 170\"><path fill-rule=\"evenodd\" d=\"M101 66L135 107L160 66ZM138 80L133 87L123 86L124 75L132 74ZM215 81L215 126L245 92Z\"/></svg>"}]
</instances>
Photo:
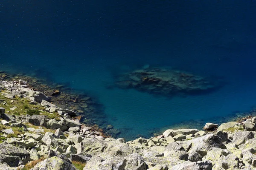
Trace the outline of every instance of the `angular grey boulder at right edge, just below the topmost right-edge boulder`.
<instances>
[{"instance_id":1,"label":"angular grey boulder at right edge, just below the topmost right-edge boulder","mask_svg":"<svg viewBox=\"0 0 256 170\"><path fill-rule=\"evenodd\" d=\"M240 132L236 132L233 136L233 144L236 145L240 145L245 143L247 140L249 139L253 139L254 138L254 134L251 131L240 131Z\"/></svg>"}]
</instances>

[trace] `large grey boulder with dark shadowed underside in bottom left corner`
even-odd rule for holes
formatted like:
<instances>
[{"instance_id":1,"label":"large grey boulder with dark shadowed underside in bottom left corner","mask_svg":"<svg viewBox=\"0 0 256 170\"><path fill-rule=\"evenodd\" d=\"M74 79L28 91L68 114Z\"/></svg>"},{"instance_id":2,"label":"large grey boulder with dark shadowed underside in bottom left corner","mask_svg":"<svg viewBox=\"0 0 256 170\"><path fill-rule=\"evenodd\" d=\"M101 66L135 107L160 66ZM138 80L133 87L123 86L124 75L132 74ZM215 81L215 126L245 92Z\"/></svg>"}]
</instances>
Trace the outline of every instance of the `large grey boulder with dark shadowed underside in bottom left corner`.
<instances>
[{"instance_id":1,"label":"large grey boulder with dark shadowed underside in bottom left corner","mask_svg":"<svg viewBox=\"0 0 256 170\"><path fill-rule=\"evenodd\" d=\"M26 152L25 150L12 146L11 144L0 144L0 154L2 155L2 158L5 156L5 159L2 161L7 161L10 159L9 156L13 158L13 163L9 164L10 166L17 165L17 161L15 161L18 157L19 162L18 164L26 164L29 161L30 154ZM17 156L17 157L16 157ZM3 162L1 162L3 163ZM8 164L8 162L6 162Z\"/></svg>"}]
</instances>

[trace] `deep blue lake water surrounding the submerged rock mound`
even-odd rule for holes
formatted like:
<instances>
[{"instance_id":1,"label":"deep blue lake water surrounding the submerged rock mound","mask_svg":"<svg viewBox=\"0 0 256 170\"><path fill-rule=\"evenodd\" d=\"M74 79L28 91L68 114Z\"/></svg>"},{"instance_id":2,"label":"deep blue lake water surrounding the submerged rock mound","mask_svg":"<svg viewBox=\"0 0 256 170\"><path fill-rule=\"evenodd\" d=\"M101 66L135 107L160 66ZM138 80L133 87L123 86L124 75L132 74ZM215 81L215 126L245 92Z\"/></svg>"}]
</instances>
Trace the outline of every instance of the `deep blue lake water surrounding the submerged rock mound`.
<instances>
[{"instance_id":1,"label":"deep blue lake water surrounding the submerged rock mound","mask_svg":"<svg viewBox=\"0 0 256 170\"><path fill-rule=\"evenodd\" d=\"M1 0L0 70L90 93L120 137L256 105L256 0ZM108 89L143 65L222 77L209 94L156 97Z\"/></svg>"}]
</instances>

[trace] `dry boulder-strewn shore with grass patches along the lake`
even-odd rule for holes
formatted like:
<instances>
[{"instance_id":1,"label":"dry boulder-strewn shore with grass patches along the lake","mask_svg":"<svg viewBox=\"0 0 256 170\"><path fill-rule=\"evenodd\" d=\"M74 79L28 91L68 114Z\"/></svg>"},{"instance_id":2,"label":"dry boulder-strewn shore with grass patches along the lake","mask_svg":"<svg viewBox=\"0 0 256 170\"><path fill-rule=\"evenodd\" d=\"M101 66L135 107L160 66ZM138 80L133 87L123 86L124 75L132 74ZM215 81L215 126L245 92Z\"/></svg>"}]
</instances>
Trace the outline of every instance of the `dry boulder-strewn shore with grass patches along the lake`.
<instances>
[{"instance_id":1,"label":"dry boulder-strewn shore with grass patches along the lake","mask_svg":"<svg viewBox=\"0 0 256 170\"><path fill-rule=\"evenodd\" d=\"M256 169L256 117L126 142L82 125L20 79L0 81L0 118L1 170Z\"/></svg>"}]
</instances>

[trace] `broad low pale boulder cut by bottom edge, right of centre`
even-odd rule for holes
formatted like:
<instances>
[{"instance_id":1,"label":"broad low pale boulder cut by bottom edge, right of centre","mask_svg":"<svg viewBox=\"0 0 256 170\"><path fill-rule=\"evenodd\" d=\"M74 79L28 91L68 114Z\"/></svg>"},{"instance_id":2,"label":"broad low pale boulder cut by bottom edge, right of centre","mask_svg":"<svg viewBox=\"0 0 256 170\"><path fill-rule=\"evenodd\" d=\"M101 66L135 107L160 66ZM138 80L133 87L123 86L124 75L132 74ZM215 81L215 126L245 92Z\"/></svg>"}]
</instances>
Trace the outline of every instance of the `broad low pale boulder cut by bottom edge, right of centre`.
<instances>
[{"instance_id":1,"label":"broad low pale boulder cut by bottom edge, right of centre","mask_svg":"<svg viewBox=\"0 0 256 170\"><path fill-rule=\"evenodd\" d=\"M186 161L172 167L171 170L212 170L212 163L210 161Z\"/></svg>"}]
</instances>

